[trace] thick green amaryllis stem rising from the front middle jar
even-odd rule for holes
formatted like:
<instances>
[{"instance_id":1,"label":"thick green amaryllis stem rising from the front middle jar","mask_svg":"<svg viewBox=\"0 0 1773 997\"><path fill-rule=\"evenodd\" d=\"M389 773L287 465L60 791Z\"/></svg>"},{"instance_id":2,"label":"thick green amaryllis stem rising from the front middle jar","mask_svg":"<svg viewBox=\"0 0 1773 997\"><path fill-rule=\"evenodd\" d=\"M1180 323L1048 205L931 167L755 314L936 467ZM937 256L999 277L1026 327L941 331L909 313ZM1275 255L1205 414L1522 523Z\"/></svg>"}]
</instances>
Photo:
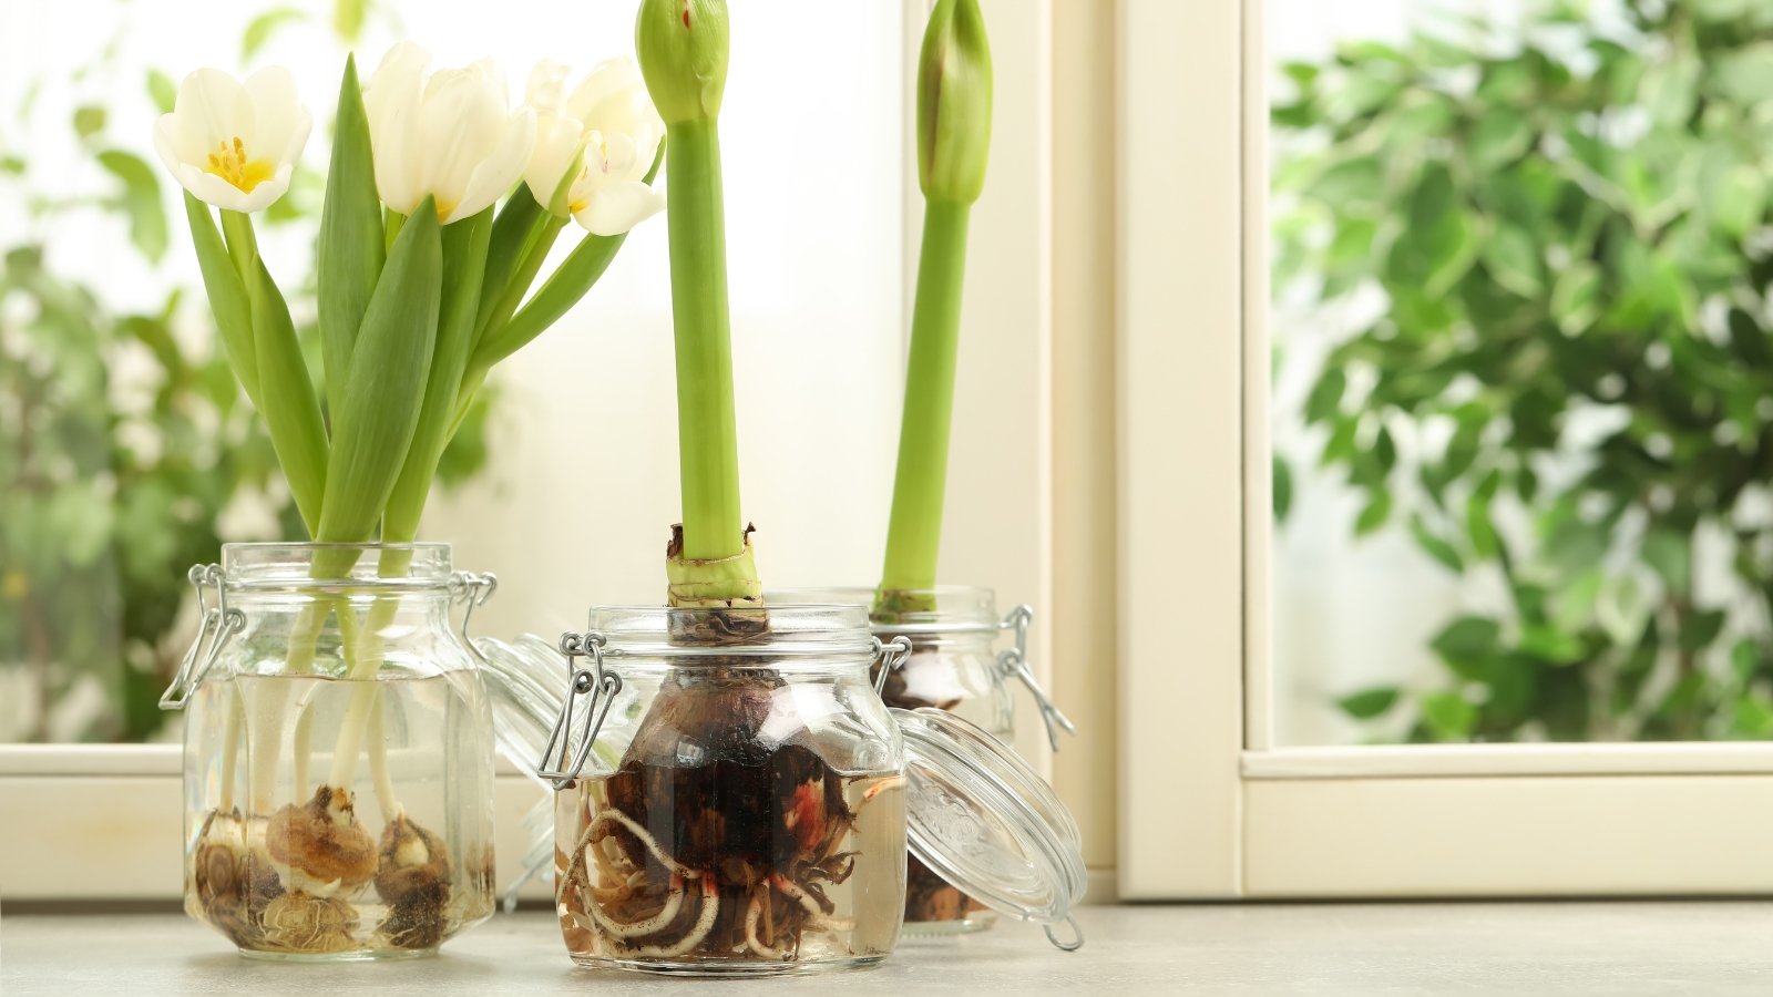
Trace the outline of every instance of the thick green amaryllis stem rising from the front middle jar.
<instances>
[{"instance_id":1,"label":"thick green amaryllis stem rising from the front middle jar","mask_svg":"<svg viewBox=\"0 0 1773 997\"><path fill-rule=\"evenodd\" d=\"M670 176L665 190L677 341L683 557L716 561L745 552L745 522L739 514L727 225L715 121L704 117L672 124L665 154Z\"/></svg>"}]
</instances>

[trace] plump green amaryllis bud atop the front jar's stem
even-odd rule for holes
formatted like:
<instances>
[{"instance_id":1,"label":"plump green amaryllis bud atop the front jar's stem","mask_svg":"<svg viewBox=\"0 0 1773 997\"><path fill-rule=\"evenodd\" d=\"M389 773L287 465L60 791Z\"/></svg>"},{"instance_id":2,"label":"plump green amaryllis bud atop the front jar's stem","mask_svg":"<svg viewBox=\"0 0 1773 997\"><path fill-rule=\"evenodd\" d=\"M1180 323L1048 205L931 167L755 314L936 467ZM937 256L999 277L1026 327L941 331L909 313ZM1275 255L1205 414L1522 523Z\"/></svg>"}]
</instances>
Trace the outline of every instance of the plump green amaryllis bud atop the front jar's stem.
<instances>
[{"instance_id":1,"label":"plump green amaryllis bud atop the front jar's stem","mask_svg":"<svg viewBox=\"0 0 1773 997\"><path fill-rule=\"evenodd\" d=\"M720 117L729 41L725 0L642 0L635 51L665 124Z\"/></svg>"}]
</instances>

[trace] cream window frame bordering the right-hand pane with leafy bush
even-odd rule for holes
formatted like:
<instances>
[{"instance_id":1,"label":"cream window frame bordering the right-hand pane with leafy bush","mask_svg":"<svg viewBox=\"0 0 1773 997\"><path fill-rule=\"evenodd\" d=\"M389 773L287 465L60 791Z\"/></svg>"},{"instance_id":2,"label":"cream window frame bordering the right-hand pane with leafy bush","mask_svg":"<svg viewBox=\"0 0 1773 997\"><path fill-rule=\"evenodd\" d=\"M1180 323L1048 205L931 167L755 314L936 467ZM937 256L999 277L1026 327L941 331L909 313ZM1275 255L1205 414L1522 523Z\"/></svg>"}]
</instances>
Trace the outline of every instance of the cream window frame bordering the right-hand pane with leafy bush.
<instances>
[{"instance_id":1,"label":"cream window frame bordering the right-hand pane with leafy bush","mask_svg":"<svg viewBox=\"0 0 1773 997\"><path fill-rule=\"evenodd\" d=\"M1273 743L1262 39L1119 0L1121 894L1773 889L1773 745Z\"/></svg>"}]
</instances>

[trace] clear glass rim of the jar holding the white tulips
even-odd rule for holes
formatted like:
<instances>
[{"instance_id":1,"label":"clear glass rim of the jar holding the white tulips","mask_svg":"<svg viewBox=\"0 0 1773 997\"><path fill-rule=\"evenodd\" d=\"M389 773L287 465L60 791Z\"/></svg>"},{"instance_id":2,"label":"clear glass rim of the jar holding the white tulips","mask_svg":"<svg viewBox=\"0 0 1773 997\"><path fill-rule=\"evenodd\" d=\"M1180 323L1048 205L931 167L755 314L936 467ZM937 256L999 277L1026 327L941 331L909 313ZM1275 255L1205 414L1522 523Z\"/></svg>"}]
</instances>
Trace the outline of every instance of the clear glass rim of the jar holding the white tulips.
<instances>
[{"instance_id":1,"label":"clear glass rim of the jar holding the white tulips","mask_svg":"<svg viewBox=\"0 0 1773 997\"><path fill-rule=\"evenodd\" d=\"M450 575L450 545L434 541L222 545L229 589L447 591Z\"/></svg>"}]
</instances>

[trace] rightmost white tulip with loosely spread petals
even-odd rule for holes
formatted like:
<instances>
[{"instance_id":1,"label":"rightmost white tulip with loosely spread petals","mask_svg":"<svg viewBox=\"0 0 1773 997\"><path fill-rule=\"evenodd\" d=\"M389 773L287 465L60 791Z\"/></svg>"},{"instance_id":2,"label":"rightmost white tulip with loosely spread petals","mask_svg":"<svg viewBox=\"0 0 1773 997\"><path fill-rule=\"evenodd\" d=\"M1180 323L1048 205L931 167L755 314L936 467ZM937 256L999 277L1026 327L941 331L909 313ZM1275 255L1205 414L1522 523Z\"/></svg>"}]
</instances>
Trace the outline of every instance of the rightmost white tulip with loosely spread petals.
<instances>
[{"instance_id":1,"label":"rightmost white tulip with loosely spread petals","mask_svg":"<svg viewBox=\"0 0 1773 997\"><path fill-rule=\"evenodd\" d=\"M571 96L566 75L558 62L530 73L535 151L523 179L557 216L571 215L596 236L619 236L665 208L665 197L645 183L665 122L633 59L601 62ZM553 202L574 165L566 199Z\"/></svg>"}]
</instances>

